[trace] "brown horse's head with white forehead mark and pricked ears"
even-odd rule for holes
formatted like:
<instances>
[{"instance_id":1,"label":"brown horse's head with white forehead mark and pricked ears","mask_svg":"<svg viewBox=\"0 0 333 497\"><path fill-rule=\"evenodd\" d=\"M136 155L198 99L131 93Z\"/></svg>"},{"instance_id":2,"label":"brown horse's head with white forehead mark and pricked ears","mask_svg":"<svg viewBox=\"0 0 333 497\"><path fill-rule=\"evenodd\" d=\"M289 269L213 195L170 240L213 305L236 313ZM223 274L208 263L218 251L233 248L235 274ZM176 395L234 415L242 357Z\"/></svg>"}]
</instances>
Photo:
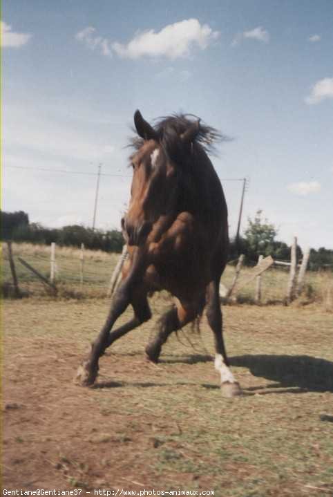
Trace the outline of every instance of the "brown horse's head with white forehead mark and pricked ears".
<instances>
[{"instance_id":1,"label":"brown horse's head with white forehead mark and pricked ears","mask_svg":"<svg viewBox=\"0 0 333 497\"><path fill-rule=\"evenodd\" d=\"M142 245L158 218L175 209L182 174L177 163L186 163L183 156L190 151L199 122L190 123L186 131L178 134L175 129L154 129L136 111L134 124L141 140L131 156L131 200L122 218L122 229L129 245Z\"/></svg>"}]
</instances>

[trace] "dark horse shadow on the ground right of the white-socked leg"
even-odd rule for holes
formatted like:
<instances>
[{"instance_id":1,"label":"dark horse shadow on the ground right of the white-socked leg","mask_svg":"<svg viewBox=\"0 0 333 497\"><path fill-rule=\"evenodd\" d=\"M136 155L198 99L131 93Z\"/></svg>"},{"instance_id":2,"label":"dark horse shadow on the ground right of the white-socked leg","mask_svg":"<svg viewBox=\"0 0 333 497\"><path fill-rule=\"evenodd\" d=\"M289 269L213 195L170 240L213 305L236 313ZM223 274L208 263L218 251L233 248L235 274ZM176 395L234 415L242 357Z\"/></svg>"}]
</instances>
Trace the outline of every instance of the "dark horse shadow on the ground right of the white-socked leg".
<instances>
[{"instance_id":1,"label":"dark horse shadow on the ground right of the white-socked leg","mask_svg":"<svg viewBox=\"0 0 333 497\"><path fill-rule=\"evenodd\" d=\"M231 357L230 363L277 383L268 388L297 387L303 392L333 392L333 362L326 359L309 355L239 355Z\"/></svg>"}]
</instances>

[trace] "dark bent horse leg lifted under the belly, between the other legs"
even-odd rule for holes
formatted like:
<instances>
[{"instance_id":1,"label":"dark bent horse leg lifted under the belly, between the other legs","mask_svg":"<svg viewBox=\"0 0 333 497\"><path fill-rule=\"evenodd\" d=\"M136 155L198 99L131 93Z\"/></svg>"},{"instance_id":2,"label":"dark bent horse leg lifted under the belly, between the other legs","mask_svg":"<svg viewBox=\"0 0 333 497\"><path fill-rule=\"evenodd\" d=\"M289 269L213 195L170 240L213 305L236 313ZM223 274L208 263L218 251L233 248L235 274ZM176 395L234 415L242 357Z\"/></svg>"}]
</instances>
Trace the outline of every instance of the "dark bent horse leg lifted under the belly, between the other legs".
<instances>
[{"instance_id":1,"label":"dark bent horse leg lifted under the belly, between the other legs","mask_svg":"<svg viewBox=\"0 0 333 497\"><path fill-rule=\"evenodd\" d=\"M197 308L185 307L178 302L160 319L160 328L146 346L146 355L152 362L158 362L162 345L167 341L173 331L179 330L182 326L193 321L198 314Z\"/></svg>"}]
</instances>

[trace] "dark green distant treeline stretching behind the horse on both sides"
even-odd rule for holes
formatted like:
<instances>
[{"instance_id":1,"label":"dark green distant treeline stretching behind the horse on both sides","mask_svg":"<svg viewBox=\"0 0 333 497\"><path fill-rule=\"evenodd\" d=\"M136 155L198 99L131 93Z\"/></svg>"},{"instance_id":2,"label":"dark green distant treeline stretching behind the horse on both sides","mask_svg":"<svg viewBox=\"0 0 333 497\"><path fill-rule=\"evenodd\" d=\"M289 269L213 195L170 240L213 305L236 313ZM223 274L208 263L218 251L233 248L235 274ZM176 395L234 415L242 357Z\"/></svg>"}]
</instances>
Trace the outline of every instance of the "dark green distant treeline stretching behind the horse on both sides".
<instances>
[{"instance_id":1,"label":"dark green distant treeline stretching behind the horse on both sides","mask_svg":"<svg viewBox=\"0 0 333 497\"><path fill-rule=\"evenodd\" d=\"M39 223L29 223L29 216L26 212L1 212L1 240L25 241L30 243L50 243L55 242L57 245L71 245L80 247L82 243L91 250L104 250L105 252L122 252L124 239L122 233L117 229L103 231L102 229L92 229L80 225L64 226L62 228L47 228ZM263 223L251 223L247 229L247 236L240 238L238 245L231 241L229 260L233 261L238 258L239 254L245 254L245 263L254 265L258 262L258 255L271 255L278 261L290 261L290 247L287 243L274 240L274 236L254 237L254 227L258 231L261 227L265 234L267 226ZM297 247L298 261L302 258L301 247ZM310 269L318 270L327 268L333 270L333 250L324 247L318 250L311 250Z\"/></svg>"}]
</instances>

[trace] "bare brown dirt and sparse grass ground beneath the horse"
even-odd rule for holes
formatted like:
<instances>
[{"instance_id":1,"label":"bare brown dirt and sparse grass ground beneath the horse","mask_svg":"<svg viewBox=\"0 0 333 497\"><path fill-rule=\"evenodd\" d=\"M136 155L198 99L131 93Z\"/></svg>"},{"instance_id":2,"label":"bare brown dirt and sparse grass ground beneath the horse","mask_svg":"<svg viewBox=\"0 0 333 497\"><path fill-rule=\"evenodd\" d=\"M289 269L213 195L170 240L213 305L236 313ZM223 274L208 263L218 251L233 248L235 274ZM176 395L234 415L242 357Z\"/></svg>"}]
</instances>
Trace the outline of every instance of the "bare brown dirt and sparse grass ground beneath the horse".
<instances>
[{"instance_id":1,"label":"bare brown dirt and sparse grass ground beneath the horse","mask_svg":"<svg viewBox=\"0 0 333 497\"><path fill-rule=\"evenodd\" d=\"M153 301L155 318L117 341L95 388L83 388L73 377L108 301L3 304L3 489L333 494L333 315L225 307L227 350L245 391L229 400L204 319L200 336L187 328L160 364L146 361L167 305Z\"/></svg>"}]
</instances>

